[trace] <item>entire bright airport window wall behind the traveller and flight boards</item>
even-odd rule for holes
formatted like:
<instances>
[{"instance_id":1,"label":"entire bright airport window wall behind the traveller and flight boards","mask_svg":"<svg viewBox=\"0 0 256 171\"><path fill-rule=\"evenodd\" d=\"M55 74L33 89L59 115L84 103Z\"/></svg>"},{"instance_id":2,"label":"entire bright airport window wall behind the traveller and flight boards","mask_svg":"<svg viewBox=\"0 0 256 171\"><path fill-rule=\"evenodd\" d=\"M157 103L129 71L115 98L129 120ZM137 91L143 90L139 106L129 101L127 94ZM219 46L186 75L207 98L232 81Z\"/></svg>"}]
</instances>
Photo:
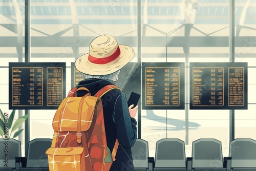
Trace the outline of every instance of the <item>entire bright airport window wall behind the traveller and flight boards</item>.
<instances>
[{"instance_id":1,"label":"entire bright airport window wall behind the traveller and flight boards","mask_svg":"<svg viewBox=\"0 0 256 171\"><path fill-rule=\"evenodd\" d=\"M9 62L25 62L25 1L0 0L0 109L9 110ZM66 93L74 86L73 62L89 52L90 42L98 35L110 34L119 44L135 51L134 70L143 63L184 64L184 108L142 109L140 138L148 141L150 156L156 142L179 138L185 142L186 157L191 156L193 141L215 138L228 156L230 110L190 110L190 62L230 62L230 2L227 0L61 0L30 2L30 62L66 62ZM234 1L233 62L248 63L248 108L234 110L234 138L256 139L253 115L256 81L256 2ZM140 19L140 20L138 20ZM157 64L156 64L157 65ZM135 68L136 66L136 68ZM140 72L139 72L140 73ZM143 73L143 71L141 72ZM140 73L140 74L141 74ZM125 75L125 74L123 74ZM143 91L138 78L138 91ZM79 79L82 79L80 77ZM120 78L124 82L125 78ZM120 84L121 85L121 84ZM125 88L125 85L122 85ZM140 90L141 89L141 90ZM127 90L128 92L130 90ZM130 93L130 92L129 92ZM127 93L126 97L129 97ZM67 94L66 94L67 95ZM65 96L66 96L65 95ZM142 98L142 96L141 96ZM56 110L30 110L30 140L52 138L52 119ZM14 120L25 114L17 110ZM44 129L41 129L44 127ZM19 129L24 129L24 125ZM22 142L25 133L15 139ZM2 138L2 137L0 137Z\"/></svg>"}]
</instances>

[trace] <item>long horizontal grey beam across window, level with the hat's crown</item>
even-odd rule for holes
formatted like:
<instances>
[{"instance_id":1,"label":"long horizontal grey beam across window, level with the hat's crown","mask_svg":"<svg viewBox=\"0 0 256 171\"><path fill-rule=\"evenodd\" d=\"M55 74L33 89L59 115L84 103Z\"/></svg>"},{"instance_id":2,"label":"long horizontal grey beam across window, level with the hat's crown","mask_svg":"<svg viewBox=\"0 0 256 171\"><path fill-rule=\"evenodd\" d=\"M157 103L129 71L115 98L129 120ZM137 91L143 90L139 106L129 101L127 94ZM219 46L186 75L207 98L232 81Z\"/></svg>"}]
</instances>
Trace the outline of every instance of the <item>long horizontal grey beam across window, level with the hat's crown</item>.
<instances>
[{"instance_id":1,"label":"long horizontal grey beam across window, level with the hat's crown","mask_svg":"<svg viewBox=\"0 0 256 171\"><path fill-rule=\"evenodd\" d=\"M23 37L24 38L24 37ZM77 37L76 37L77 38ZM95 37L79 37L83 41L79 47L89 47L90 42ZM123 36L115 37L119 44L129 44L131 47L137 47L137 37L135 36ZM1 39L8 41L0 41L0 47L17 47L17 37L1 36ZM72 47L74 45L74 37L31 37L31 47ZM184 44L188 44L189 47L229 47L228 36L191 36L187 40L183 36L167 37L167 47L183 47ZM234 44L236 47L256 47L256 36L240 36L234 38ZM143 47L165 47L165 36L146 36L142 37Z\"/></svg>"}]
</instances>

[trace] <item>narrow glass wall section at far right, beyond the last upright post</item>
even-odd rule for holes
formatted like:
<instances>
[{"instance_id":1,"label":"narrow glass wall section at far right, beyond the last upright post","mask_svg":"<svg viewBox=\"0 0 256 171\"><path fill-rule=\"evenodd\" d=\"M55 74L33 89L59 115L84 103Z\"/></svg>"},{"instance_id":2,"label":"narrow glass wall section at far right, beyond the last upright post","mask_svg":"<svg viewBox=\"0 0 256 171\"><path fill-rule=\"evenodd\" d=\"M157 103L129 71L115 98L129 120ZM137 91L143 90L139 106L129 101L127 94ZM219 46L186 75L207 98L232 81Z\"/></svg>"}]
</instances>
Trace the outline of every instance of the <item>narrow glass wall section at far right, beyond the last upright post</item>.
<instances>
[{"instance_id":1,"label":"narrow glass wall section at far right, beyond the last upright post","mask_svg":"<svg viewBox=\"0 0 256 171\"><path fill-rule=\"evenodd\" d=\"M248 62L248 110L235 112L235 138L255 139L256 1L235 1L235 61ZM253 93L252 93L253 92Z\"/></svg>"}]
</instances>

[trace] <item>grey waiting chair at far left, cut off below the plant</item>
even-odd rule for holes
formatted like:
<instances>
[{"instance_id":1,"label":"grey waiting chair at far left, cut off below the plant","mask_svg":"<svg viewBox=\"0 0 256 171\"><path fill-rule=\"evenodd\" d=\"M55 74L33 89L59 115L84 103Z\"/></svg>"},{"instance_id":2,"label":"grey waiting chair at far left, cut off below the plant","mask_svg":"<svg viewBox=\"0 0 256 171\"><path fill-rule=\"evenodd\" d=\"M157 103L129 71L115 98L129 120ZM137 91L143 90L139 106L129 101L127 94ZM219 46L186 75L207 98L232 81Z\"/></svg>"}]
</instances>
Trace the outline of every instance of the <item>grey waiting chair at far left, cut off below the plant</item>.
<instances>
[{"instance_id":1,"label":"grey waiting chair at far left, cut off below the plant","mask_svg":"<svg viewBox=\"0 0 256 171\"><path fill-rule=\"evenodd\" d=\"M0 171L12 171L15 168L15 157L22 156L20 141L0 139L0 144Z\"/></svg>"}]
</instances>

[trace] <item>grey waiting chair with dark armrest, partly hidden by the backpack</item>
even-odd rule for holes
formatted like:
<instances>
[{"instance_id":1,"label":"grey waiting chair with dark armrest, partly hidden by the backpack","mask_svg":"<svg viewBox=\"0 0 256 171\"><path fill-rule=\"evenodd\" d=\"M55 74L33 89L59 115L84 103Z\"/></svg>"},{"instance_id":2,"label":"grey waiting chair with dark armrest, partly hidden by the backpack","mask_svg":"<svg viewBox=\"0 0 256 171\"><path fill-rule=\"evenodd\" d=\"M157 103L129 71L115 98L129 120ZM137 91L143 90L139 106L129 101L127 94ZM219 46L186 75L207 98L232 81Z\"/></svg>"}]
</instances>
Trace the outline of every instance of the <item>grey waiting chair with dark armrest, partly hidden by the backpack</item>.
<instances>
[{"instance_id":1,"label":"grey waiting chair with dark armrest, partly hidden by the backpack","mask_svg":"<svg viewBox=\"0 0 256 171\"><path fill-rule=\"evenodd\" d=\"M16 158L16 171L49 171L46 151L51 147L52 139L34 139L29 142L26 158ZM24 163L25 162L25 163ZM22 167L20 167L22 163Z\"/></svg>"}]
</instances>

